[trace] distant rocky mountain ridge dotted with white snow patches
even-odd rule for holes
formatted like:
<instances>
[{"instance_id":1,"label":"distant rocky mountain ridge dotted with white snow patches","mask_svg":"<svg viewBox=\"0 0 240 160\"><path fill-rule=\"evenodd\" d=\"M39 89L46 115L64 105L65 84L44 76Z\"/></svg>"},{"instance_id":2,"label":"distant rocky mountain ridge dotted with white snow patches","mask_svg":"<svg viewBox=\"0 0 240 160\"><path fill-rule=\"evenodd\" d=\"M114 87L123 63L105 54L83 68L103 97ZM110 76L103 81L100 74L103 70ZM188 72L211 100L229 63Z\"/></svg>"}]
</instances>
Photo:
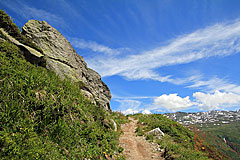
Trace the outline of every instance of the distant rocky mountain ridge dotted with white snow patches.
<instances>
[{"instance_id":1,"label":"distant rocky mountain ridge dotted with white snow patches","mask_svg":"<svg viewBox=\"0 0 240 160\"><path fill-rule=\"evenodd\" d=\"M240 121L240 109L238 111L208 111L196 113L166 113L167 118L179 122L182 125L221 125Z\"/></svg>"}]
</instances>

